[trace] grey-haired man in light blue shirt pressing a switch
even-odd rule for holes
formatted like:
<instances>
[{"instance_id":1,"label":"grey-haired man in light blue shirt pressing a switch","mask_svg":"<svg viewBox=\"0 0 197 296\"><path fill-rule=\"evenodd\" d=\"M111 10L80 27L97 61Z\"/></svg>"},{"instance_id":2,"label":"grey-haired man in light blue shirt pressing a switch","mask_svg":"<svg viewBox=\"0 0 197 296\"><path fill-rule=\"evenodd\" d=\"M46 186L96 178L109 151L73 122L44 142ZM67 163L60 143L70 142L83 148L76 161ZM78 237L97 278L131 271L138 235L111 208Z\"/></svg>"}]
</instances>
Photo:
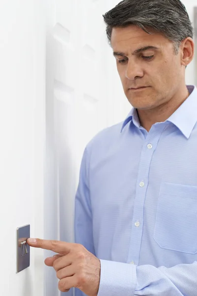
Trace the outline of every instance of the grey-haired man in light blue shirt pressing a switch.
<instances>
[{"instance_id":1,"label":"grey-haired man in light blue shirt pressing a switch","mask_svg":"<svg viewBox=\"0 0 197 296\"><path fill-rule=\"evenodd\" d=\"M197 296L197 89L193 29L179 0L124 0L104 15L126 120L86 147L75 242L34 247L76 296Z\"/></svg>"}]
</instances>

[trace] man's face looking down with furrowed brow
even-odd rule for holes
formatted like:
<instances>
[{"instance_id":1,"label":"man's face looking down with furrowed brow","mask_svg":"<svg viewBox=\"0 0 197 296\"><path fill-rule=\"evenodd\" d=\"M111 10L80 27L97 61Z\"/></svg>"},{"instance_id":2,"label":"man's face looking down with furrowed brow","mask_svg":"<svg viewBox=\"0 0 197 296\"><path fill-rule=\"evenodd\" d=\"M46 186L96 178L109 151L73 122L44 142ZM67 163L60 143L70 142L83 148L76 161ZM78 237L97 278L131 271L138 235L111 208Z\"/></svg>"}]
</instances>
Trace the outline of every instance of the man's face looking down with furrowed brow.
<instances>
[{"instance_id":1,"label":"man's face looking down with furrowed brow","mask_svg":"<svg viewBox=\"0 0 197 296\"><path fill-rule=\"evenodd\" d=\"M150 110L167 103L184 82L180 52L176 55L174 44L163 35L150 35L133 25L114 28L111 45L125 95L134 108Z\"/></svg>"}]
</instances>

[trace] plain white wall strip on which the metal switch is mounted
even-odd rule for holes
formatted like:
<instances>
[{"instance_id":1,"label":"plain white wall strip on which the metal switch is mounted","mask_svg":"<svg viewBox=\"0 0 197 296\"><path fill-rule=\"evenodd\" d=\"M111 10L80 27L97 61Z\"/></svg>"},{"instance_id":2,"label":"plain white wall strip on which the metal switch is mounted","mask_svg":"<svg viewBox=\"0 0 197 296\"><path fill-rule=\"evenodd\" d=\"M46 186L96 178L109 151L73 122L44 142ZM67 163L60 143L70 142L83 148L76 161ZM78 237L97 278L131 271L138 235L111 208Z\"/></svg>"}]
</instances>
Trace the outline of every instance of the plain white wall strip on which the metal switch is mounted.
<instances>
[{"instance_id":1,"label":"plain white wall strip on which the metal switch is mounted","mask_svg":"<svg viewBox=\"0 0 197 296\"><path fill-rule=\"evenodd\" d=\"M0 295L43 296L43 252L16 273L16 228L43 237L45 21L40 0L0 0Z\"/></svg>"}]
</instances>

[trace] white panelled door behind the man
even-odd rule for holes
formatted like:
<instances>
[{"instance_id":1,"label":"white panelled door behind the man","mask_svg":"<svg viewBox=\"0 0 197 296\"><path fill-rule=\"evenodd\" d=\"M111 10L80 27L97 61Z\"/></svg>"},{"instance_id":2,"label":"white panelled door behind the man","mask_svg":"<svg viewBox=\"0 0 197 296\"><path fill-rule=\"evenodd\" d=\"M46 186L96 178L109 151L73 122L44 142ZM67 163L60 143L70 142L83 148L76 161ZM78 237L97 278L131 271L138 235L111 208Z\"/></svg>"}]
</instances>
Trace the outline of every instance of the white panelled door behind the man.
<instances>
[{"instance_id":1,"label":"white panelled door behind the man","mask_svg":"<svg viewBox=\"0 0 197 296\"><path fill-rule=\"evenodd\" d=\"M112 6L106 0L47 2L47 239L74 241L74 196L84 148L99 130L129 112L121 103L123 93L117 96L120 84L113 80L115 62L102 20ZM45 272L45 295L60 295L54 270L46 267Z\"/></svg>"}]
</instances>

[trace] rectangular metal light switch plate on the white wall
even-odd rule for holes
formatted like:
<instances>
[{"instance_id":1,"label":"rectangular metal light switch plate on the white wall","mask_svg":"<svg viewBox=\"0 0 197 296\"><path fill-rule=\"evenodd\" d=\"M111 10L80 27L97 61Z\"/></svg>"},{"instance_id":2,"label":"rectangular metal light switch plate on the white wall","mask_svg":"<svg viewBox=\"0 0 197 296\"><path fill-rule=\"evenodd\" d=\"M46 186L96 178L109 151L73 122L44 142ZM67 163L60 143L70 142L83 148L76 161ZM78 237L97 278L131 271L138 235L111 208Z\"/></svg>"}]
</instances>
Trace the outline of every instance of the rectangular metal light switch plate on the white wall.
<instances>
[{"instance_id":1,"label":"rectangular metal light switch plate on the white wall","mask_svg":"<svg viewBox=\"0 0 197 296\"><path fill-rule=\"evenodd\" d=\"M30 224L17 228L17 273L30 266Z\"/></svg>"}]
</instances>

